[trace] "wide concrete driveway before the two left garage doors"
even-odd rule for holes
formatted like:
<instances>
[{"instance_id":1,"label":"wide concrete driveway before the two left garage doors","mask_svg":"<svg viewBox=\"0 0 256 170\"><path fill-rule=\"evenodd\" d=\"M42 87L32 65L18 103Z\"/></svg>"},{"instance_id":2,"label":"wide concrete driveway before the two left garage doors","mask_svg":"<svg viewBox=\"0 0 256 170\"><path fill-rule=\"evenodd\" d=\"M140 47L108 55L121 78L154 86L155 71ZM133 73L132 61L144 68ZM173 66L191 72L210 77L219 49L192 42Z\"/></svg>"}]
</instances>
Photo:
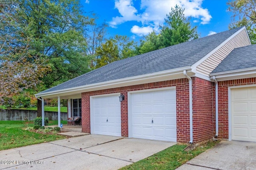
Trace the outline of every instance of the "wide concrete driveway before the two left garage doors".
<instances>
[{"instance_id":1,"label":"wide concrete driveway before the two left garage doors","mask_svg":"<svg viewBox=\"0 0 256 170\"><path fill-rule=\"evenodd\" d=\"M87 135L0 151L0 169L114 170L176 143Z\"/></svg>"}]
</instances>

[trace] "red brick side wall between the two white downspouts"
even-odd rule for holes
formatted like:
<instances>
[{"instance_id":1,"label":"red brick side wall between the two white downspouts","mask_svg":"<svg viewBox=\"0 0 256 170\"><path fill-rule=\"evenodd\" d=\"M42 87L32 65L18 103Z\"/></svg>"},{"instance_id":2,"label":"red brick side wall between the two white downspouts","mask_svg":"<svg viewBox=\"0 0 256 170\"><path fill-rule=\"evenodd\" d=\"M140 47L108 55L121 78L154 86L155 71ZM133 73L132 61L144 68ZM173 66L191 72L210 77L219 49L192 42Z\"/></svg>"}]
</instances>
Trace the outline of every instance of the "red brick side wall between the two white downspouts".
<instances>
[{"instance_id":1,"label":"red brick side wall between the two white downspouts","mask_svg":"<svg viewBox=\"0 0 256 170\"><path fill-rule=\"evenodd\" d=\"M212 138L213 134L213 83L192 78L193 141L198 143Z\"/></svg>"}]
</instances>

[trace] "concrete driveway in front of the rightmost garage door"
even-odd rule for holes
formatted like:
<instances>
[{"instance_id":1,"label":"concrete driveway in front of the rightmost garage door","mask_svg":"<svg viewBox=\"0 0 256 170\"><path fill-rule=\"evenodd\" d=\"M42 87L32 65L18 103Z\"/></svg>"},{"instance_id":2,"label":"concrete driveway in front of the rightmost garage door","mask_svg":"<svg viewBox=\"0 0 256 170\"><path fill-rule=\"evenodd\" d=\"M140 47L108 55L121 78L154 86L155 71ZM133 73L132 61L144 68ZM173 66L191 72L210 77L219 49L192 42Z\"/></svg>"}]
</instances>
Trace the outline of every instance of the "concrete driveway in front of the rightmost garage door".
<instances>
[{"instance_id":1,"label":"concrete driveway in front of the rightmost garage door","mask_svg":"<svg viewBox=\"0 0 256 170\"><path fill-rule=\"evenodd\" d=\"M256 170L256 143L221 141L176 170Z\"/></svg>"}]
</instances>

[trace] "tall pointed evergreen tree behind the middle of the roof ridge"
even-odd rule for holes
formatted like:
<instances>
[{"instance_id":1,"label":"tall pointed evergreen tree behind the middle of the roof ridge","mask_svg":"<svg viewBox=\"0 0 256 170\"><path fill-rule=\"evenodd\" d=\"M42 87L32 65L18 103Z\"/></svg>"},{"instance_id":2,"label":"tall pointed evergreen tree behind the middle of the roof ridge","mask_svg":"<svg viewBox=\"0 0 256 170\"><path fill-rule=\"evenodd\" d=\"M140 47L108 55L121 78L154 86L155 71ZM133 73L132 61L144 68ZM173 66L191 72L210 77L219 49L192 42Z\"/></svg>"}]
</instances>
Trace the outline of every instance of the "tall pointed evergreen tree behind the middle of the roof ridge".
<instances>
[{"instance_id":1,"label":"tall pointed evergreen tree behind the middle of the roof ridge","mask_svg":"<svg viewBox=\"0 0 256 170\"><path fill-rule=\"evenodd\" d=\"M192 39L197 39L197 27L191 27L190 18L184 16L184 9L176 5L171 12L166 14L164 25L160 25L159 34L155 31L149 33L142 41L139 52L146 53L161 49Z\"/></svg>"}]
</instances>

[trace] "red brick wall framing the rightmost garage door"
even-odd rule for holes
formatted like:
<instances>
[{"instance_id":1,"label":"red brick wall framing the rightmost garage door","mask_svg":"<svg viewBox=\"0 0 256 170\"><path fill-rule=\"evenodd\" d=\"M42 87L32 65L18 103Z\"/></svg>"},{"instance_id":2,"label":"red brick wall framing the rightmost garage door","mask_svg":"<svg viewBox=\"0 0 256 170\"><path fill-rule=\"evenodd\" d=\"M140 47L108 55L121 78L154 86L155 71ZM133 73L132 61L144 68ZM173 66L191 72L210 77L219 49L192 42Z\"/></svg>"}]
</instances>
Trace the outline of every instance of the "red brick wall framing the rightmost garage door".
<instances>
[{"instance_id":1,"label":"red brick wall framing the rightmost garage door","mask_svg":"<svg viewBox=\"0 0 256 170\"><path fill-rule=\"evenodd\" d=\"M251 84L256 84L255 77L218 82L218 125L219 125L218 138L219 139L228 139L228 87L244 86L244 85L251 85Z\"/></svg>"}]
</instances>

